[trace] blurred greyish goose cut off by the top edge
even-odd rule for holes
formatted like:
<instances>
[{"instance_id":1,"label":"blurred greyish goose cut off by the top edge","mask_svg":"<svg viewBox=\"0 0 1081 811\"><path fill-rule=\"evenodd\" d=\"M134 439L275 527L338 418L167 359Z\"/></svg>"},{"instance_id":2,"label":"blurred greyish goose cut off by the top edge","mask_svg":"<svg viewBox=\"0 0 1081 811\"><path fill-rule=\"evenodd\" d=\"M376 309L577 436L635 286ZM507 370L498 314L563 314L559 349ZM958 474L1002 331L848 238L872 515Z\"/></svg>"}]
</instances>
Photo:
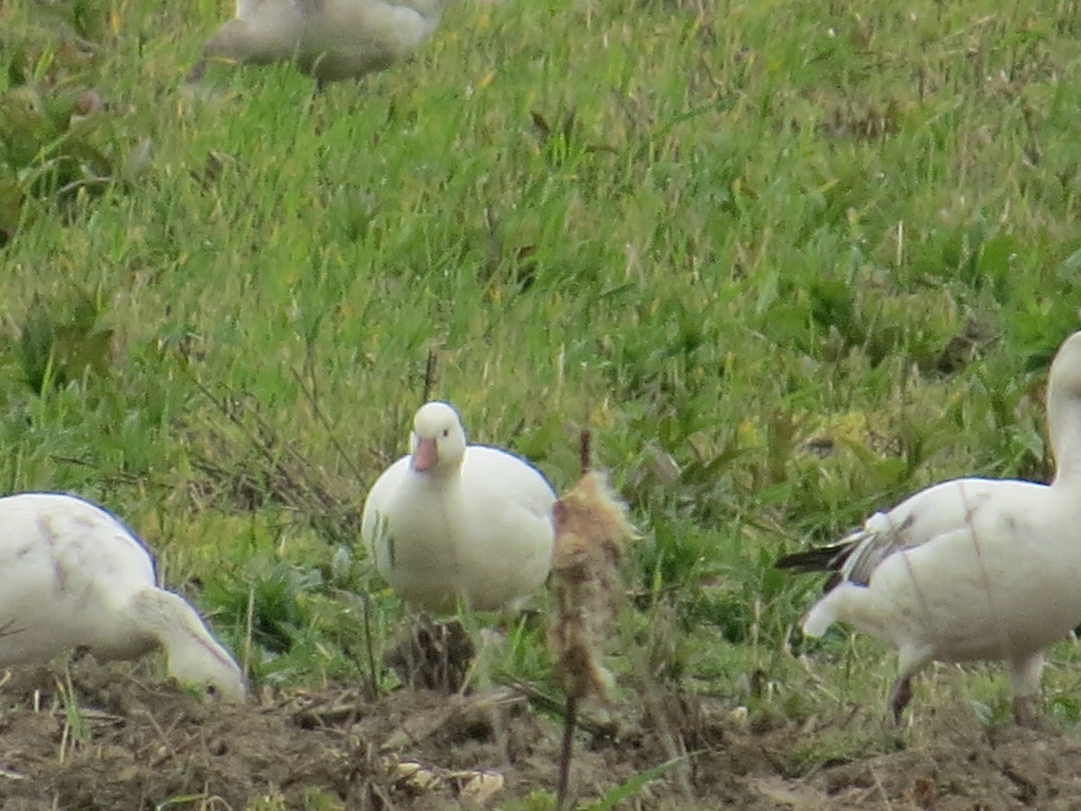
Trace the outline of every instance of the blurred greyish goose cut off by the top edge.
<instances>
[{"instance_id":1,"label":"blurred greyish goose cut off by the top edge","mask_svg":"<svg viewBox=\"0 0 1081 811\"><path fill-rule=\"evenodd\" d=\"M322 87L383 70L439 26L449 0L238 0L237 16L203 49L208 59L264 65L295 61Z\"/></svg>"}]
</instances>

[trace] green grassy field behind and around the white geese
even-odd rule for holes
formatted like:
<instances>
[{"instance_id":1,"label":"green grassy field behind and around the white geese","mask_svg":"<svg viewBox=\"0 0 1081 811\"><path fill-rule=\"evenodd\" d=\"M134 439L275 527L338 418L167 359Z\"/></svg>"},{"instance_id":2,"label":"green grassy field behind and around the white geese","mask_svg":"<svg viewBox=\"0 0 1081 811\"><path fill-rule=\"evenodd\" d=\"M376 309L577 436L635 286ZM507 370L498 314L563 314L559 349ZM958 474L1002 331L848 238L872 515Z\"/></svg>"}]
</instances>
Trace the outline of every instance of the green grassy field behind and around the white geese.
<instances>
[{"instance_id":1,"label":"green grassy field behind and around the white geese","mask_svg":"<svg viewBox=\"0 0 1081 811\"><path fill-rule=\"evenodd\" d=\"M403 616L357 515L432 353L431 395L561 489L592 429L641 532L617 701L648 660L752 714L884 709L891 657L801 640L818 583L771 564L943 478L1050 474L1081 6L466 0L359 84L184 87L230 13L0 5L0 489L126 517L256 683L355 680L357 595L377 649ZM82 88L105 110L34 141ZM551 691L542 630L501 655ZM1073 728L1081 655L1052 660ZM916 724L958 700L1007 715L996 668L939 668Z\"/></svg>"}]
</instances>

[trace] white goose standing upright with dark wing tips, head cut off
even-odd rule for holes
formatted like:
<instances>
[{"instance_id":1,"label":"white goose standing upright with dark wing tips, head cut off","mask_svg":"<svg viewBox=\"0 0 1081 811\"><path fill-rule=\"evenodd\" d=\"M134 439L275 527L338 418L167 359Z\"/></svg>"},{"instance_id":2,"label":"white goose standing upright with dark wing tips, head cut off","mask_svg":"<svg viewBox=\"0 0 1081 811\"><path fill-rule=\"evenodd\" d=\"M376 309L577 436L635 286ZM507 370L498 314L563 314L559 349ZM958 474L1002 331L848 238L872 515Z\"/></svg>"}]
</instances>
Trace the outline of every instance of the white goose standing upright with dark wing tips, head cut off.
<instances>
[{"instance_id":1,"label":"white goose standing upright with dark wing tips, head cut off","mask_svg":"<svg viewBox=\"0 0 1081 811\"><path fill-rule=\"evenodd\" d=\"M876 513L833 546L777 561L837 570L804 633L820 636L840 621L897 648L895 721L929 662L1001 660L1014 718L1037 723L1044 649L1081 622L1081 332L1051 365L1047 422L1052 484L946 481Z\"/></svg>"}]
</instances>

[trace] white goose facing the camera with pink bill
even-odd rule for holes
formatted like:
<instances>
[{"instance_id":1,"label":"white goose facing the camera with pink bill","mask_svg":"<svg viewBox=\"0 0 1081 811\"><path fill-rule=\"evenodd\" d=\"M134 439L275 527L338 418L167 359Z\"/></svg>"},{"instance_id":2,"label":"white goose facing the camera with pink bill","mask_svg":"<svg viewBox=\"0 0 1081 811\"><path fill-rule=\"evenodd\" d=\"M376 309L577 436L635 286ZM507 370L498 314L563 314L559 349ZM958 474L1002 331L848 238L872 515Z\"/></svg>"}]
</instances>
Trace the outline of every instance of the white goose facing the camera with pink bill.
<instances>
[{"instance_id":1,"label":"white goose facing the camera with pink bill","mask_svg":"<svg viewBox=\"0 0 1081 811\"><path fill-rule=\"evenodd\" d=\"M466 444L454 407L428 402L412 452L387 468L364 503L361 536L402 598L431 611L458 600L495 610L528 597L551 568L556 491L532 465Z\"/></svg>"}]
</instances>

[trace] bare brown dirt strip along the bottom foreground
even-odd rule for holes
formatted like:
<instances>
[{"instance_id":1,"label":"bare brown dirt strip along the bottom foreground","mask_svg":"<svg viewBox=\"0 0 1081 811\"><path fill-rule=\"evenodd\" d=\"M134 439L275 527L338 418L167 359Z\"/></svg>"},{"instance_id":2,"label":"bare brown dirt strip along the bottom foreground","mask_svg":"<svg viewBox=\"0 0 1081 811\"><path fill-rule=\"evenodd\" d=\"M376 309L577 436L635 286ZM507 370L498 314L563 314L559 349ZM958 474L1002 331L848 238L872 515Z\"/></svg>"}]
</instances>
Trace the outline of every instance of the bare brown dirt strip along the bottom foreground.
<instances>
[{"instance_id":1,"label":"bare brown dirt strip along the bottom foreground","mask_svg":"<svg viewBox=\"0 0 1081 811\"><path fill-rule=\"evenodd\" d=\"M200 703L146 669L72 665L77 714L65 712L62 673L13 672L0 687L0 808L427 811L515 807L555 785L560 722L511 689L399 691L372 702L330 687L227 706ZM614 736L579 734L583 802L685 747L696 754L618 807L1081 809L1081 740L989 733L960 706L920 713L927 743L900 736L886 754L814 768L797 766L805 761L795 753L870 716L839 710L796 728L748 721L704 699L653 715L665 713L680 726L628 709Z\"/></svg>"}]
</instances>

